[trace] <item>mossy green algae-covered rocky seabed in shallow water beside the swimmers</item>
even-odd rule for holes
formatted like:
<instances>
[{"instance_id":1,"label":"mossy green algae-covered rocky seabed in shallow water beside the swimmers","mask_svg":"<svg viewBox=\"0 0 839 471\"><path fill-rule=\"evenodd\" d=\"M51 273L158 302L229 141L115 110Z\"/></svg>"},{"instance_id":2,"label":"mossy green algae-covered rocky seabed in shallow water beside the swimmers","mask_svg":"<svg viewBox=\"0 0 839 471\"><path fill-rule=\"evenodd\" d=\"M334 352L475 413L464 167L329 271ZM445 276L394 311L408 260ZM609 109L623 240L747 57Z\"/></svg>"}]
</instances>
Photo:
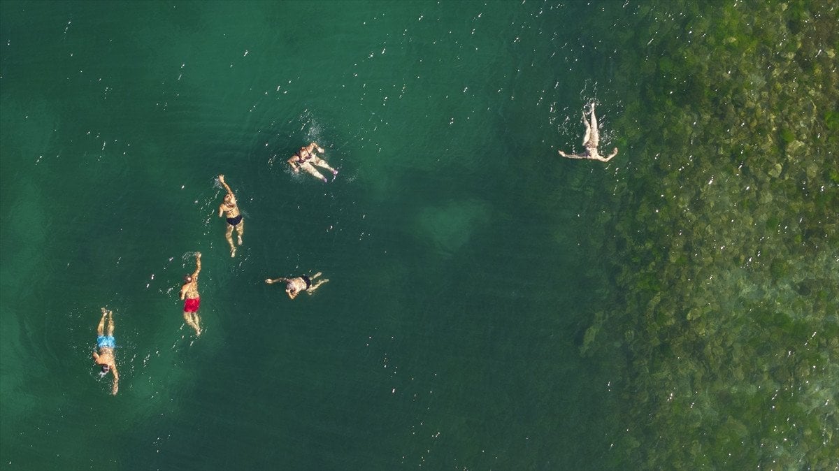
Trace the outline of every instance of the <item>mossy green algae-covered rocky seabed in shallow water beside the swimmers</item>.
<instances>
[{"instance_id":1,"label":"mossy green algae-covered rocky seabed in shallow water beside the swimmers","mask_svg":"<svg viewBox=\"0 0 839 471\"><path fill-rule=\"evenodd\" d=\"M628 350L620 465L835 468L839 6L656 5L703 35L654 28L621 58L628 81L648 84L620 91L626 109L657 117L632 122L646 162L626 187L635 217L603 221L627 241L610 257L620 307L586 344ZM631 65L657 56L658 70ZM659 72L710 92L657 99Z\"/></svg>"}]
</instances>

